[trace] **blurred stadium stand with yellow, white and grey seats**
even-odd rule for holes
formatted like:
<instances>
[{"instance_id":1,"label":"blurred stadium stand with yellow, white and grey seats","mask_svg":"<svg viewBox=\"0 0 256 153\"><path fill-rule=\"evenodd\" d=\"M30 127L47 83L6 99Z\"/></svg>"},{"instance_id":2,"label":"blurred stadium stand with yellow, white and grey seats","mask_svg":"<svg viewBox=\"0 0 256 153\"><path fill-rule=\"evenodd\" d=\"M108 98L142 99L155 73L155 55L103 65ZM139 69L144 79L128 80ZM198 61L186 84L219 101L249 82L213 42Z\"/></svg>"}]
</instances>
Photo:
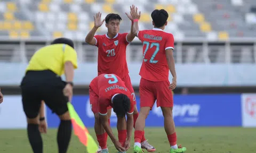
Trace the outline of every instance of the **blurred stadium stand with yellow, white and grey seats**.
<instances>
[{"instance_id":1,"label":"blurred stadium stand with yellow, white and grey seats","mask_svg":"<svg viewBox=\"0 0 256 153\"><path fill-rule=\"evenodd\" d=\"M0 38L49 41L57 37L68 37L84 41L87 32L94 25L93 15L98 11L102 12L103 18L111 12L121 14L123 20L120 32L129 32L131 23L124 12L130 12L132 4L137 5L142 12L140 29L152 28L150 13L154 9L164 8L169 12L169 24L165 31L173 33L178 42L175 47L182 51L174 54L177 63L255 62L256 45L253 42L249 46L229 47L223 44L207 44L205 47L203 44L204 41L226 41L233 38L238 38L239 41L255 39L255 0L3 0L0 2ZM97 34L106 32L107 28L102 25ZM188 39L198 40L201 45L179 44ZM1 58L4 61L26 62L43 45L45 44L0 44L1 56L8 54L6 58ZM97 61L97 48L88 45L85 47L85 44L76 46L79 61ZM26 54L18 51L24 49ZM129 45L127 61L140 61L142 57L139 49L141 46ZM19 54L24 56L12 57Z\"/></svg>"}]
</instances>

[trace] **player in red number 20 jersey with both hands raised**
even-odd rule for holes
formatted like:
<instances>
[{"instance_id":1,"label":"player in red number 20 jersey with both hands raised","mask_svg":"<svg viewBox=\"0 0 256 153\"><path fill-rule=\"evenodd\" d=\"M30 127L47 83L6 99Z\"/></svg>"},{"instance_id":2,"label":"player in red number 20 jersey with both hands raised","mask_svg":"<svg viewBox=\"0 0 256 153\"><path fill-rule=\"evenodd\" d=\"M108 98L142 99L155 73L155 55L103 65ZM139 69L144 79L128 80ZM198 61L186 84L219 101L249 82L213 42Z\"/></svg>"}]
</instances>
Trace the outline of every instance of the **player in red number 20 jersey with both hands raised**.
<instances>
[{"instance_id":1,"label":"player in red number 20 jersey with both hands raised","mask_svg":"<svg viewBox=\"0 0 256 153\"><path fill-rule=\"evenodd\" d=\"M135 8L135 6L132 6L131 9L132 8ZM131 21L133 21L131 15L127 13L125 14ZM131 25L131 31L129 33L118 33L121 20L121 16L114 13L108 14L104 20L101 20L101 13L97 13L96 16L94 16L94 27L87 34L85 41L90 45L95 45L98 47L98 75L102 73L116 74L125 82L125 86L131 91L134 102L133 120L135 128L135 122L139 116L139 113L136 107L135 94L126 62L126 46L129 45L129 43L134 39L135 35L132 33L133 22ZM106 35L94 36L97 29L101 27L104 21L106 21L105 25L108 28L108 32ZM111 107L108 109L109 117L110 114ZM96 126L101 125L95 124L95 127ZM107 142L107 135L105 140ZM147 149L147 151L151 152L156 150L153 146L149 145L148 141L144 137L144 134L141 142L142 148ZM99 151L100 150L101 149L99 147Z\"/></svg>"}]
</instances>

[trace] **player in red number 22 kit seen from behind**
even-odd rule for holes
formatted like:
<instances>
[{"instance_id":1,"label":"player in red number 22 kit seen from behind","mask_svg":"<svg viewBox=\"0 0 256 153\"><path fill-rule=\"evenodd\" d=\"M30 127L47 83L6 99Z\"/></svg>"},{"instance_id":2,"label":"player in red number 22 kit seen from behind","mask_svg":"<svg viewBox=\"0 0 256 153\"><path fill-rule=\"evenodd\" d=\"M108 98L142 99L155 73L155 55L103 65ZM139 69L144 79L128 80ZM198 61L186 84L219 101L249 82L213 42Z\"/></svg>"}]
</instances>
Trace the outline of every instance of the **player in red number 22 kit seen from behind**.
<instances>
[{"instance_id":1,"label":"player in red number 22 kit seen from behind","mask_svg":"<svg viewBox=\"0 0 256 153\"><path fill-rule=\"evenodd\" d=\"M154 10L151 13L153 30L139 31L138 8L131 10L133 18L133 33L143 43L143 62L140 69L140 115L135 123L134 153L142 153L141 137L145 120L155 101L161 107L164 116L164 129L170 142L170 153L185 152L185 147L177 146L177 135L172 117L172 90L176 87L176 72L173 58L174 38L171 33L164 32L168 13L165 10ZM172 83L169 82L169 70Z\"/></svg>"}]
</instances>

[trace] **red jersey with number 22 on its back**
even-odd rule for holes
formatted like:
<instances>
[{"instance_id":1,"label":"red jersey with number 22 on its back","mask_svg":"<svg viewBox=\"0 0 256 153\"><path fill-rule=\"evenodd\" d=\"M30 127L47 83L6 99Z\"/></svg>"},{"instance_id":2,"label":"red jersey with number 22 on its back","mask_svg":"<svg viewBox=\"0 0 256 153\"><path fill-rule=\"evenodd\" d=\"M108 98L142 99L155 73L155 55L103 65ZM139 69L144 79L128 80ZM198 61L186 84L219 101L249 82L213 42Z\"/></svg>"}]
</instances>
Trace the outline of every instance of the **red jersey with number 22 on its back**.
<instances>
[{"instance_id":1,"label":"red jersey with number 22 on its back","mask_svg":"<svg viewBox=\"0 0 256 153\"><path fill-rule=\"evenodd\" d=\"M169 80L169 67L165 50L174 49L174 38L171 33L162 29L142 30L138 38L143 43L143 62L140 76L149 81Z\"/></svg>"}]
</instances>

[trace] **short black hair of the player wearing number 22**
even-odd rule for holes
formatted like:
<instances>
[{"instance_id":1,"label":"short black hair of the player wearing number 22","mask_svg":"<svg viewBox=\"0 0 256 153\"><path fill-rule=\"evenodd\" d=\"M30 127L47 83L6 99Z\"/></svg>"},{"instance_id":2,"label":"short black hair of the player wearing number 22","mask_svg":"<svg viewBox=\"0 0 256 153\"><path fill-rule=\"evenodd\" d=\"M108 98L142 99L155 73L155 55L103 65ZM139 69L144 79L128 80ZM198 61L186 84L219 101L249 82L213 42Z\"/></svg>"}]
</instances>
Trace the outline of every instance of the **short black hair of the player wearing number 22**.
<instances>
[{"instance_id":1,"label":"short black hair of the player wearing number 22","mask_svg":"<svg viewBox=\"0 0 256 153\"><path fill-rule=\"evenodd\" d=\"M169 15L168 13L164 10L154 10L151 13L151 18L155 23L155 27L160 28L163 27L163 25L166 23Z\"/></svg>"}]
</instances>

